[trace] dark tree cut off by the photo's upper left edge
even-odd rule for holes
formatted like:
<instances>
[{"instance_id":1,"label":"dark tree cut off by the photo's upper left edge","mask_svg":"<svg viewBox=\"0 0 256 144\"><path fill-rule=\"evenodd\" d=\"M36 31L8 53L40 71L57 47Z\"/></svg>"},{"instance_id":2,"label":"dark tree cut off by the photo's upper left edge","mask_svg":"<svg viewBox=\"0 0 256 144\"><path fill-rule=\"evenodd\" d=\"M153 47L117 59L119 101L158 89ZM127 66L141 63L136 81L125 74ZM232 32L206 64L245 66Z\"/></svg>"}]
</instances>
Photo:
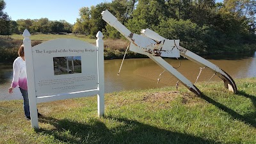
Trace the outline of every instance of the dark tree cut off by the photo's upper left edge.
<instances>
[{"instance_id":1,"label":"dark tree cut off by the photo's upper left edge","mask_svg":"<svg viewBox=\"0 0 256 144\"><path fill-rule=\"evenodd\" d=\"M4 1L0 1L0 35L10 35L10 18L3 10L6 6Z\"/></svg>"}]
</instances>

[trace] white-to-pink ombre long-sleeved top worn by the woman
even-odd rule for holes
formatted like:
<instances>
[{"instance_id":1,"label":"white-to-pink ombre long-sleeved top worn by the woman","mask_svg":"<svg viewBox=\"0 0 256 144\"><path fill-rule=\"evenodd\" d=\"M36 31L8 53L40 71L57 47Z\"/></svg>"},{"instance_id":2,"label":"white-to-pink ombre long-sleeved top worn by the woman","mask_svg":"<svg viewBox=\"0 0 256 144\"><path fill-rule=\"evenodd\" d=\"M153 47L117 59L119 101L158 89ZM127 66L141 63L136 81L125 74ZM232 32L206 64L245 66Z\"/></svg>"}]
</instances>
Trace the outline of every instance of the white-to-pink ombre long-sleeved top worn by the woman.
<instances>
[{"instance_id":1,"label":"white-to-pink ombre long-sleeved top worn by the woman","mask_svg":"<svg viewBox=\"0 0 256 144\"><path fill-rule=\"evenodd\" d=\"M12 87L19 86L23 90L28 90L26 63L21 57L18 57L13 62L13 79Z\"/></svg>"}]
</instances>

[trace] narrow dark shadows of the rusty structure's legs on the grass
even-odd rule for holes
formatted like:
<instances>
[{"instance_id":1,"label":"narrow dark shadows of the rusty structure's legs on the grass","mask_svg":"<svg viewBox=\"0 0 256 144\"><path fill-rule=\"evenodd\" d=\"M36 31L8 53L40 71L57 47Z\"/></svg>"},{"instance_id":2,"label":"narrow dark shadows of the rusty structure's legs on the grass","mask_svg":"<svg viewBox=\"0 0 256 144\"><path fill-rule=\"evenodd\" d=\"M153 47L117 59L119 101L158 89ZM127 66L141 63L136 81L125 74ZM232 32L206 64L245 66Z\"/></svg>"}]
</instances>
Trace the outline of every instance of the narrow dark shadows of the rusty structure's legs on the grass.
<instances>
[{"instance_id":1,"label":"narrow dark shadows of the rusty structure's legs on the grass","mask_svg":"<svg viewBox=\"0 0 256 144\"><path fill-rule=\"evenodd\" d=\"M256 108L256 97L253 95L249 95L247 93L244 93L242 91L239 91L237 94L242 95L244 97L247 97L249 99L252 100L254 107ZM237 113L236 111L234 111L233 109L228 108L227 106L221 104L220 102L216 102L214 99L211 99L211 97L207 97L206 95L201 96L202 99L206 100L207 102L213 104L214 106L216 106L217 108L225 111L226 113L228 113L229 115L231 115L233 118L237 119L237 120L241 120L246 124L252 125L253 127L256 127L256 112L254 113L249 113L246 115L240 115L239 113Z\"/></svg>"}]
</instances>

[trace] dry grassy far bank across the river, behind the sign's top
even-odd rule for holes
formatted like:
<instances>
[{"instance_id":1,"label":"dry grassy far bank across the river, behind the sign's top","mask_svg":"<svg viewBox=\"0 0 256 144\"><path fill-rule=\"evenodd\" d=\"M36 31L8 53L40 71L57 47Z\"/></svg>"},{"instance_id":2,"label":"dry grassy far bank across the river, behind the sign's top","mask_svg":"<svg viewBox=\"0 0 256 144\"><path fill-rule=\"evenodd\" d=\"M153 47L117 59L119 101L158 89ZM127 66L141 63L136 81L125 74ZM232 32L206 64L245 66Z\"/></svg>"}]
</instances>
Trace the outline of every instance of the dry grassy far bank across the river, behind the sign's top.
<instances>
[{"instance_id":1,"label":"dry grassy far bank across the river, behind the sign's top","mask_svg":"<svg viewBox=\"0 0 256 144\"><path fill-rule=\"evenodd\" d=\"M89 42L90 44L96 45L96 38L90 38L85 35L31 35L32 46L45 42L47 40L54 40L57 38L75 38L78 40L83 40ZM0 36L0 61L12 62L17 58L17 51L19 46L22 44L22 35L12 35L12 36ZM104 40L104 59L116 59L123 58L125 49L129 42L127 40ZM147 58L147 56L142 54L136 54L132 51L128 51L125 58Z\"/></svg>"}]
</instances>

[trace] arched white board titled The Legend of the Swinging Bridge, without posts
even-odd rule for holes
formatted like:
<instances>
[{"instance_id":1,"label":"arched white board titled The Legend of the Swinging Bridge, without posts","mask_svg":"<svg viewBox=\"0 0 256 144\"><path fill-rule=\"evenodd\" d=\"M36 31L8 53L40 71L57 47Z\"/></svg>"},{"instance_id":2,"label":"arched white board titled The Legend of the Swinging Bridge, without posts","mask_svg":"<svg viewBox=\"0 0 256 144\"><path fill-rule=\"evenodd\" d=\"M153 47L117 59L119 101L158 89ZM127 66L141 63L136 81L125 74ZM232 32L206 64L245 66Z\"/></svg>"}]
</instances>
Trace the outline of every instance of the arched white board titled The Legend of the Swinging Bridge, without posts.
<instances>
[{"instance_id":1,"label":"arched white board titled The Legend of the Swinging Bridge, without posts","mask_svg":"<svg viewBox=\"0 0 256 144\"><path fill-rule=\"evenodd\" d=\"M32 48L36 97L98 88L97 46L57 39Z\"/></svg>"}]
</instances>

